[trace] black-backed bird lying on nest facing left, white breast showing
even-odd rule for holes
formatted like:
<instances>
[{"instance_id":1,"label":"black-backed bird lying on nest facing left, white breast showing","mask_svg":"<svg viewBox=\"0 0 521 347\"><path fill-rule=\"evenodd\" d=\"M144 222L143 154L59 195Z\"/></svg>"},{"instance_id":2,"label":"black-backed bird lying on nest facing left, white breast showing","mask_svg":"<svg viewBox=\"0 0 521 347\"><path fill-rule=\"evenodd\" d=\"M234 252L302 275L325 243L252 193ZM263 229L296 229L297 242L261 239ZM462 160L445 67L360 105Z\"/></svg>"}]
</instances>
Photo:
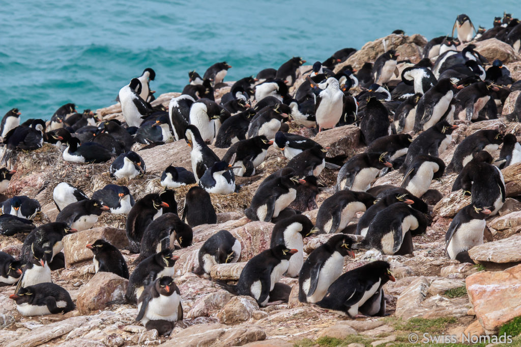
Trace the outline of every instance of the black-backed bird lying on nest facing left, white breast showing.
<instances>
[{"instance_id":1,"label":"black-backed bird lying on nest facing left, white breast showing","mask_svg":"<svg viewBox=\"0 0 521 347\"><path fill-rule=\"evenodd\" d=\"M94 142L80 144L78 138L71 137L67 141L63 158L71 163L104 163L112 158L112 153L100 144Z\"/></svg>"}]
</instances>

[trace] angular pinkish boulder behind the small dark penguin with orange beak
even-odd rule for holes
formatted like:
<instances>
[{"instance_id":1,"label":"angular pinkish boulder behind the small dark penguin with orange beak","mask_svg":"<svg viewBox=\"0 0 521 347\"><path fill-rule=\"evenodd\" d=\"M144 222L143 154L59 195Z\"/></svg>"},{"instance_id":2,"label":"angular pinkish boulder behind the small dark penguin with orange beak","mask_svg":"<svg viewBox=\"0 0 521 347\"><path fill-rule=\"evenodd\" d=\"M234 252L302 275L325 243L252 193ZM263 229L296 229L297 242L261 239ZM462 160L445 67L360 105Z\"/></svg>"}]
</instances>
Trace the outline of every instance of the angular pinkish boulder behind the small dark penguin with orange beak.
<instances>
[{"instance_id":1,"label":"angular pinkish boulder behind the small dark penguin with orange beak","mask_svg":"<svg viewBox=\"0 0 521 347\"><path fill-rule=\"evenodd\" d=\"M73 264L92 260L92 251L85 246L97 239L104 239L118 249L125 249L129 245L125 230L112 227L94 228L67 235L63 238L65 267L70 268Z\"/></svg>"}]
</instances>

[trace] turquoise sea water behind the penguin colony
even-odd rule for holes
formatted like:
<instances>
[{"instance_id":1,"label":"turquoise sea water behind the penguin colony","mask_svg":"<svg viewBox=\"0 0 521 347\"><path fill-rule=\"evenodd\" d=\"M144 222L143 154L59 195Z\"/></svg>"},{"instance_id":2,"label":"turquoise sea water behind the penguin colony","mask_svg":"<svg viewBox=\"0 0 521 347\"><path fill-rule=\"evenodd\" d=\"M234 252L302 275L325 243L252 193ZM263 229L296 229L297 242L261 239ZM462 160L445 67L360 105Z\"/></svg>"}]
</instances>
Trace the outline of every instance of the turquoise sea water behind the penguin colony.
<instances>
[{"instance_id":1,"label":"turquoise sea water behind the penguin colony","mask_svg":"<svg viewBox=\"0 0 521 347\"><path fill-rule=\"evenodd\" d=\"M475 27L516 13L518 1L11 1L0 13L0 117L49 119L62 104L114 104L144 68L156 96L181 91L188 71L215 62L225 81L278 68L292 56L324 60L395 29L427 38L450 34L457 15Z\"/></svg>"}]
</instances>

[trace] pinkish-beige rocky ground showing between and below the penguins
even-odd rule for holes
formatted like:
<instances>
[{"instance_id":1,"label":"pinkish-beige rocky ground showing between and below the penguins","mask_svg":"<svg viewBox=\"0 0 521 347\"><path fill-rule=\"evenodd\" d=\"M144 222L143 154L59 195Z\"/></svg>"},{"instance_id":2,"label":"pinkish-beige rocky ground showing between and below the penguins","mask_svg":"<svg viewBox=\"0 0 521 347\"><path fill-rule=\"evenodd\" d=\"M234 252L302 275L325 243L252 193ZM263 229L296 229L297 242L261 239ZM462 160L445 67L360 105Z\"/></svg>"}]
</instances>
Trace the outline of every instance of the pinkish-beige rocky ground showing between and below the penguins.
<instances>
[{"instance_id":1,"label":"pinkish-beige rocky ground showing between and below the penguins","mask_svg":"<svg viewBox=\"0 0 521 347\"><path fill-rule=\"evenodd\" d=\"M418 34L391 34L367 43L336 69L348 64L359 68L365 61L374 61L384 52L383 41L387 49L396 49L401 58L412 62L420 60L423 46L427 43L425 37ZM490 61L501 59L511 71L514 81L521 79L521 57L510 45L491 38L478 42L476 46L477 52ZM301 71L308 69L305 66ZM297 88L303 80L297 80L292 88ZM228 85L231 83L228 82ZM218 89L216 101L228 91L229 87ZM504 114L513 111L520 93L513 92L508 96L502 109L503 116L499 119L461 125L454 131L451 145L441 156L445 164L450 162L457 144L477 130L497 129L521 136L521 123L507 122L504 118ZM167 106L172 97L179 95L160 95L152 105ZM119 105L96 112L105 120L123 120ZM311 136L305 128L296 126L294 130ZM356 126L345 125L322 132L313 139L324 147L330 147L327 156L334 162L364 151L365 146L359 138L360 131ZM226 152L213 146L210 148L219 157ZM146 163L147 173L128 184L136 200L148 192L162 189L159 176L170 162L191 170L190 148L184 140L141 150L139 154ZM443 255L445 232L457 211L469 203L469 198L462 197L460 191L451 192L454 177L449 176L444 177L443 183L433 182L431 185L444 198L433 207L433 223L427 228L427 233L413 239L414 256L388 256L369 251L356 253L355 259L345 259L345 271L373 260L386 260L391 264L396 282L384 286L389 317L349 319L315 305L300 303L297 279L286 277L281 281L293 288L289 303L259 307L250 297L234 297L215 282L192 274L197 262L197 250L216 230L229 230L242 245L248 246L243 246L241 263L214 266L212 277L215 279L237 280L245 262L269 248L273 224L250 222L244 216L243 209L248 207L263 179L286 163L280 152L270 147L265 162L258 168L258 174L237 179L238 184L243 185L238 194L230 197L211 195L218 212L218 224L194 227L193 245L176 251L180 259L175 265L175 282L183 300L184 320L177 324L170 337L160 337L157 331L147 331L135 322L137 309L131 305L106 306L108 301L122 297L128 280L111 273L94 274L92 252L85 249L85 245L103 238L122 250L128 264L133 263L137 254L125 250L128 239L124 217L104 214L93 229L64 238L66 268L52 274L53 281L69 291L77 309L64 315L24 317L16 310L13 300L9 299L14 287L0 287L0 345L311 346L322 345L324 341L337 341L353 347L376 346L414 342L408 340L413 332L418 333L420 339L424 332L433 336L497 335L503 324L521 316L521 255L518 251L521 248L521 202L513 199L521 192L521 164L503 169L508 199L499 214L487 220L490 230L486 234L488 242L469 252L472 259L479 263L478 266L460 264ZM17 174L11 179L7 195L35 197L42 204L44 215L41 222L54 221L58 213L52 201L54 186L59 182L68 182L90 195L106 184L114 183L108 175L108 166L108 163L65 162L56 147L45 144L41 149L18 154L15 164ZM325 169L319 177L330 188L320 192L318 205L334 192L332 187L337 173L337 170ZM401 179L402 175L394 171L379 178L375 185L399 185ZM187 190L188 187L183 187L176 191L180 210ZM304 214L314 223L317 211ZM311 252L331 236L318 235L304 239L304 251ZM20 253L21 244L15 237L0 236L0 250L14 256ZM133 268L129 266L130 271ZM514 338L514 341L519 343L521 339Z\"/></svg>"}]
</instances>

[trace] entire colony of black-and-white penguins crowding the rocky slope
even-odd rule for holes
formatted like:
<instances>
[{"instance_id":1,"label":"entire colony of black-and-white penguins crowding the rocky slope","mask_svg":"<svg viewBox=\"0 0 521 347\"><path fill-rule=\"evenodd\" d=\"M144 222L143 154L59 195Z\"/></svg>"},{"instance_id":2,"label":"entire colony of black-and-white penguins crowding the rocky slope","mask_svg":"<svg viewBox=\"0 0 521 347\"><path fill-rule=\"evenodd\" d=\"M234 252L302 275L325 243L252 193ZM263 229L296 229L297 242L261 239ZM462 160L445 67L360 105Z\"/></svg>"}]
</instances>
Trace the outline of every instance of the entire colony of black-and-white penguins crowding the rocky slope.
<instances>
[{"instance_id":1,"label":"entire colony of black-and-white penguins crowding the rocky slope","mask_svg":"<svg viewBox=\"0 0 521 347\"><path fill-rule=\"evenodd\" d=\"M315 62L313 69L306 70L306 61L293 57L277 70L262 70L230 87L223 81L231 66L218 62L202 77L190 71L189 84L168 107L151 105L155 92L150 82L156 73L147 68L119 91L123 121L104 120L90 110L79 113L75 104L66 104L47 123L30 119L20 124L20 111L9 110L0 124L2 164L8 165L0 169L0 193L17 173L17 152L36 150L44 142L57 146L70 163L110 162L114 184L86 194L59 183L53 190L59 214L55 222L38 226L33 221L42 213L37 200L2 195L0 232L27 236L18 259L0 252L0 284L16 286L10 298L22 315L75 309L69 293L52 282L52 272L65 267L62 240L92 228L102 213L121 214L128 251L136 254L133 263L104 239L84 247L92 251L96 273L129 279L124 297L109 304L137 306L137 321L169 335L183 319L173 271L180 259L176 253L192 245L192 228L217 223L211 197L239 192L236 178L262 173L273 146L286 166L260 182L244 210L250 221L274 223L270 247L247 260L236 283L217 284L266 306L287 302L291 287L280 280L297 277L301 302L351 318L385 315L383 286L395 280L390 264L376 260L344 273L346 256L355 258L355 251L371 249L413 254L413 238L426 232L432 205L442 198L430 188L432 181L454 179L452 190L470 196L470 203L446 230L443 256L473 262L468 250L483 242L487 217L505 202L500 169L521 162L515 134L483 128L464 138L452 158L440 159L459 125L497 119L506 95L519 89L500 60L489 62L472 42L467 44L497 37L519 50L519 20L508 17L503 22L494 21L492 29L474 36L470 19L458 16L453 37L433 38L416 64L398 60L399 53L389 49L357 71L341 65L355 53L345 48ZM219 100L214 93L222 87L230 91ZM510 121L521 118L517 104L507 116ZM360 128L364 152L329 159L329 148L310 138L348 124ZM298 128L305 131L296 134ZM139 151L133 151L140 148L135 144L153 148L173 141L190 147L190 170L175 161L165 163L159 176L164 189L134 200L125 184L147 170ZM227 152L219 158L212 145ZM335 185L320 180L325 169L338 171ZM374 186L377 177L392 172L401 175L401 184ZM181 197L175 189L183 186L190 189L179 217L176 199ZM324 190L331 194L318 207ZM302 213L317 208L314 224ZM331 237L304 254L304 239L318 234ZM240 261L250 245L236 236L216 229L199 249L193 272L211 278L216 264Z\"/></svg>"}]
</instances>

